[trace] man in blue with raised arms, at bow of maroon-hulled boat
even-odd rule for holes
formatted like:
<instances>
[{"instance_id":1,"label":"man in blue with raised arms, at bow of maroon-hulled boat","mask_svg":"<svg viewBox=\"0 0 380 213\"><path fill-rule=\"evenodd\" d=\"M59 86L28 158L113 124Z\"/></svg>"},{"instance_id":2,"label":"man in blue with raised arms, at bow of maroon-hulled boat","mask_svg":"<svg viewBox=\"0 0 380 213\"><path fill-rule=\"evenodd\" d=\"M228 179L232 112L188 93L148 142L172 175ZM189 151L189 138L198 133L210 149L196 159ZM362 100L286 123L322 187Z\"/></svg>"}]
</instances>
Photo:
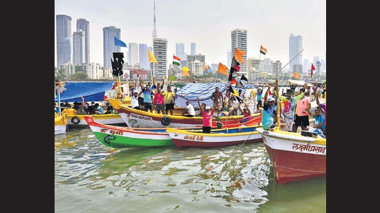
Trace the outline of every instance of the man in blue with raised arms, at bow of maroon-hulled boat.
<instances>
[{"instance_id":1,"label":"man in blue with raised arms, at bow of maroon-hulled boat","mask_svg":"<svg viewBox=\"0 0 380 213\"><path fill-rule=\"evenodd\" d=\"M264 107L263 107L263 116L261 117L261 123L263 123L263 129L268 130L269 128L276 127L277 123L277 112L276 107L274 105L274 99L273 97L269 97L268 99L268 93L271 88L271 85L268 85L267 92L265 92L264 95Z\"/></svg>"}]
</instances>

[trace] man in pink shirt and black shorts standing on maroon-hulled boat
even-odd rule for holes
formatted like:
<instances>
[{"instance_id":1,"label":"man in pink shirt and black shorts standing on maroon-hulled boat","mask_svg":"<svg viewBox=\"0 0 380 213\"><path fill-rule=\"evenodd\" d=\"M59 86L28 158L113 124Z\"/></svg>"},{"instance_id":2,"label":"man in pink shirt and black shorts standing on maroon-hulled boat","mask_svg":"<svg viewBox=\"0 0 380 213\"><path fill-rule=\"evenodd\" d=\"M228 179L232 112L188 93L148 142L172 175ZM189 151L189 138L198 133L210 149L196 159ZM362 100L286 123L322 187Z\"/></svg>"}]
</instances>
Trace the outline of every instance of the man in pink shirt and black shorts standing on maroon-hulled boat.
<instances>
[{"instance_id":1,"label":"man in pink shirt and black shorts standing on maroon-hulled boat","mask_svg":"<svg viewBox=\"0 0 380 213\"><path fill-rule=\"evenodd\" d=\"M305 92L304 88L301 88L301 92ZM307 113L307 106L310 105L310 98L303 95L296 103L296 118L294 119L295 125L293 132L297 132L298 126L301 126L302 130L307 130L309 123L309 114Z\"/></svg>"}]
</instances>

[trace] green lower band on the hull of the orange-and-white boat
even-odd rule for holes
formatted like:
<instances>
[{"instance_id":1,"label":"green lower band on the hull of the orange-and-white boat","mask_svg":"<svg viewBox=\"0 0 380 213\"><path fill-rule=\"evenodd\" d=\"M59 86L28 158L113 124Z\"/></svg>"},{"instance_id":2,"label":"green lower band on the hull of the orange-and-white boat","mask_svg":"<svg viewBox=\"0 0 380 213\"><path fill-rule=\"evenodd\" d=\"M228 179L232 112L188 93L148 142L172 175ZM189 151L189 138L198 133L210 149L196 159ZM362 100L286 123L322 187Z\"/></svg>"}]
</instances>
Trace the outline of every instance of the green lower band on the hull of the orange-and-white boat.
<instances>
[{"instance_id":1,"label":"green lower band on the hull of the orange-and-white boat","mask_svg":"<svg viewBox=\"0 0 380 213\"><path fill-rule=\"evenodd\" d=\"M115 134L94 132L97 139L109 148L164 147L174 145L171 139L135 139Z\"/></svg>"}]
</instances>

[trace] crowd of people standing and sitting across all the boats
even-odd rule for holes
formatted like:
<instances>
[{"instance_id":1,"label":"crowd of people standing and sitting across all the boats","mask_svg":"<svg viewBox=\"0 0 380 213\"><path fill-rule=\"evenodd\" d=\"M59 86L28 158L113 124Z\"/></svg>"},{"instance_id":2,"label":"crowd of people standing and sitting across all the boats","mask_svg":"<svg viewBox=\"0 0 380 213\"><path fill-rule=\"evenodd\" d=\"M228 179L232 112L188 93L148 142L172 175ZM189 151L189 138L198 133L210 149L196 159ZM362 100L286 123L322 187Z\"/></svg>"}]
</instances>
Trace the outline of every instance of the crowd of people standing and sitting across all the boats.
<instances>
[{"instance_id":1,"label":"crowd of people standing and sitting across all the boats","mask_svg":"<svg viewBox=\"0 0 380 213\"><path fill-rule=\"evenodd\" d=\"M138 74L137 74L138 77ZM162 77L162 83L155 83L155 77L153 77L153 84L151 82L146 83L142 81L141 77L138 77L139 84L133 81L133 84L129 86L128 92L124 94L118 93L118 97L124 99L124 97L131 95L131 107L137 110L144 110L146 112L155 112L158 114L171 114L173 115L175 93L170 85L167 85L167 90L163 90L165 79ZM276 88L276 87L275 87ZM315 88L310 88L307 83L303 85L303 88L299 92L295 91L295 85L289 83L289 89L286 92L282 91L282 94L278 94L278 103L276 103L276 90L272 90L272 83L267 85L267 90L263 94L264 88L258 88L256 92L256 109L260 109L263 112L262 126L264 130L275 128L280 123L281 130L288 132L297 132L298 128L301 130L317 132L320 136L326 136L326 103L320 103L319 97L321 96L319 91ZM313 90L313 91L312 91ZM311 100L310 94L314 92L316 104L318 105L314 110L314 114L310 112ZM186 101L186 108L182 112L182 116L202 116L203 117L203 132L211 131L211 121L213 117L220 116L233 116L243 115L241 122L247 122L251 119L251 110L247 103L244 103L245 94L242 90L238 91L238 96L231 94L229 90L226 90L225 95L220 92L219 87L215 88L215 91L211 93L211 100L213 101L212 108L206 105L206 103L200 103L200 99L197 98L200 114L196 114L196 110L190 101ZM234 101L238 101L238 106L233 106ZM244 108L240 108L241 103L244 103ZM61 103L62 113L67 114L111 114L115 113L112 105L106 102L105 108L99 106L99 103L84 101L82 97L81 102L74 102L73 106L70 103ZM279 110L279 113L277 113ZM57 113L57 107L55 106L55 112ZM279 115L279 117L278 117ZM310 125L309 117L314 118L314 125ZM278 122L280 119L280 122Z\"/></svg>"}]
</instances>

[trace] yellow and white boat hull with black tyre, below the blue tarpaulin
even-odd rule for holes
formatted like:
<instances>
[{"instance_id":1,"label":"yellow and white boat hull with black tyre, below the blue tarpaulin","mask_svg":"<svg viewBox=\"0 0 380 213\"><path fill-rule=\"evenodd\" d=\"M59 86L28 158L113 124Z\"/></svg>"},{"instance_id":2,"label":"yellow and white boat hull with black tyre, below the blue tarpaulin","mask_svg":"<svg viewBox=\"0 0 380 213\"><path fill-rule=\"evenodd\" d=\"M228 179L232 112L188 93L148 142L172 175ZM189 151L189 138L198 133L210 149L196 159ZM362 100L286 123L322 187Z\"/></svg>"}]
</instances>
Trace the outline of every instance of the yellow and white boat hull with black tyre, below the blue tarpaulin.
<instances>
[{"instance_id":1,"label":"yellow and white boat hull with black tyre, below the blue tarpaulin","mask_svg":"<svg viewBox=\"0 0 380 213\"><path fill-rule=\"evenodd\" d=\"M67 125L69 128L86 128L88 123L84 120L84 116L92 116L97 123L108 125L126 125L120 114L77 114L67 115Z\"/></svg>"}]
</instances>

